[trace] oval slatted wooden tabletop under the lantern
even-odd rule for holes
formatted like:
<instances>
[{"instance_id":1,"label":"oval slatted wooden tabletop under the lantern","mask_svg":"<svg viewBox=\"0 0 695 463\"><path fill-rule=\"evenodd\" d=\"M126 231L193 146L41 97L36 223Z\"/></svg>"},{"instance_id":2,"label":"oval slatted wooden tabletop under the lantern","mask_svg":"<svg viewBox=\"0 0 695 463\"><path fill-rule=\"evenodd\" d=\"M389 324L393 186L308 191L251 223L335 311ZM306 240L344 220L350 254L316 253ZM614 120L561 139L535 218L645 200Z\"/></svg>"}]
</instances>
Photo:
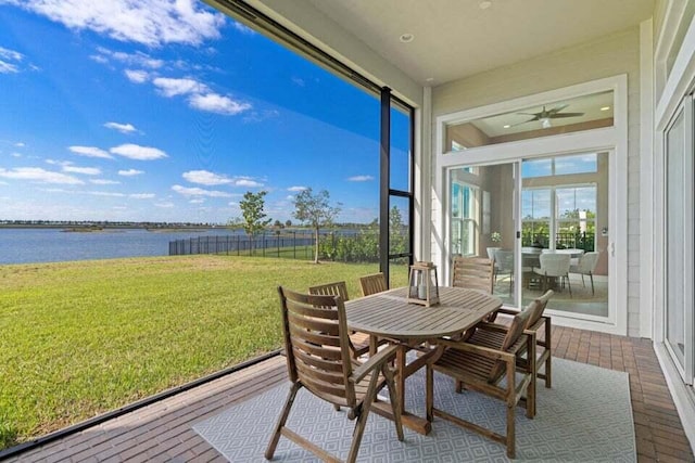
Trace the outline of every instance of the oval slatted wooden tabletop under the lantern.
<instances>
[{"instance_id":1,"label":"oval slatted wooden tabletop under the lantern","mask_svg":"<svg viewBox=\"0 0 695 463\"><path fill-rule=\"evenodd\" d=\"M395 338L429 339L466 331L502 307L497 297L462 287L440 287L440 304L408 304L404 287L345 304L352 330Z\"/></svg>"}]
</instances>

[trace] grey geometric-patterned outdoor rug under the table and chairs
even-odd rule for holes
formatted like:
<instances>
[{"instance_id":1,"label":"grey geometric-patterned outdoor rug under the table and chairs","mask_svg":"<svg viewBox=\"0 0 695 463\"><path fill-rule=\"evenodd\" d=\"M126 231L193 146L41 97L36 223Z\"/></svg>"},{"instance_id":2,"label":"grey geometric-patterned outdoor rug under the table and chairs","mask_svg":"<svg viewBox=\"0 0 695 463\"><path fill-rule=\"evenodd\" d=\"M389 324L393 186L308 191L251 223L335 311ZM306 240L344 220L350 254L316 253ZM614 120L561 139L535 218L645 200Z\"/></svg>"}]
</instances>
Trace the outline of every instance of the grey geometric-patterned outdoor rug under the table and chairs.
<instances>
[{"instance_id":1,"label":"grey geometric-patterned outdoor rug under the table and chairs","mask_svg":"<svg viewBox=\"0 0 695 463\"><path fill-rule=\"evenodd\" d=\"M517 459L546 462L636 461L628 374L568 360L553 359L553 388L538 383L538 413L533 420L517 409ZM435 407L452 411L497 433L505 432L503 402L471 391L456 394L454 382L434 375ZM230 462L263 462L263 453L278 419L289 382L223 413L200 422L193 429ZM386 393L383 389L382 394ZM425 374L407 380L406 409L425 415ZM345 459L353 421L344 409L301 389L288 421L289 427L330 453ZM505 447L442 419L421 436L404 427L400 442L393 422L369 413L358 461L362 462L502 462ZM285 437L273 461L318 461Z\"/></svg>"}]
</instances>

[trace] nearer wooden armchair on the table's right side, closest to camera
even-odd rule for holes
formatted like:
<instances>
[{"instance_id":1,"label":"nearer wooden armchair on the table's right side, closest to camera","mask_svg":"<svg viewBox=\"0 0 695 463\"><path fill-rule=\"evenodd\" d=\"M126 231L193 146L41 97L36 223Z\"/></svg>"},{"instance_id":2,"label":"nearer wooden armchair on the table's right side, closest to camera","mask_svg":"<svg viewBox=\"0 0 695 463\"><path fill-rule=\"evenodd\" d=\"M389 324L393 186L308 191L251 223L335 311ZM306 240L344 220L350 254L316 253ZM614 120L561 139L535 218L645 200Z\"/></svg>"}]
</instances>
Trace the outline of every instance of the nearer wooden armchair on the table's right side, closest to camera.
<instances>
[{"instance_id":1,"label":"nearer wooden armchair on the table's right side, closest to camera","mask_svg":"<svg viewBox=\"0 0 695 463\"><path fill-rule=\"evenodd\" d=\"M443 352L435 362L427 366L426 403L429 420L432 420L433 416L439 416L467 429L475 430L484 437L504 443L507 448L507 456L515 458L515 411L517 403L527 393L532 378L530 370L517 366L517 360L522 348L531 352L529 356L531 363L535 359L531 337L523 333L530 314L529 311L523 311L514 318L511 326L509 326L498 349L482 347L465 340L438 339L438 349L443 349ZM531 366L533 368L533 365ZM505 402L507 414L506 435L503 436L478 424L452 415L444 410L434 408L434 371L452 376L457 383L457 388L463 386L466 389L476 390ZM517 376L517 373L519 376ZM526 415L530 419L533 417L534 396L527 395L529 400L526 403Z\"/></svg>"}]
</instances>

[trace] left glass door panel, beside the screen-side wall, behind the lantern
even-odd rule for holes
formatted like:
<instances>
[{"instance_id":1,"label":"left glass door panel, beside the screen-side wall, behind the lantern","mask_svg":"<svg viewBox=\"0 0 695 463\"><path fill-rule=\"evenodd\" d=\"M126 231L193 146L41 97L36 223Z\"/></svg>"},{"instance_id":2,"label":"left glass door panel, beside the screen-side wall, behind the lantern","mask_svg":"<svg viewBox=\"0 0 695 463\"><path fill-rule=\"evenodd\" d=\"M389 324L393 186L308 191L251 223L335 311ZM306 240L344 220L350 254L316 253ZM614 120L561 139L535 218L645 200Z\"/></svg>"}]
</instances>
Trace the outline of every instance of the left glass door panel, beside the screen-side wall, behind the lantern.
<instances>
[{"instance_id":1,"label":"left glass door panel, beside the screen-side wall, behind the lantern","mask_svg":"<svg viewBox=\"0 0 695 463\"><path fill-rule=\"evenodd\" d=\"M448 173L450 261L454 256L494 260L494 294L518 307L516 296L515 164L464 166Z\"/></svg>"}]
</instances>

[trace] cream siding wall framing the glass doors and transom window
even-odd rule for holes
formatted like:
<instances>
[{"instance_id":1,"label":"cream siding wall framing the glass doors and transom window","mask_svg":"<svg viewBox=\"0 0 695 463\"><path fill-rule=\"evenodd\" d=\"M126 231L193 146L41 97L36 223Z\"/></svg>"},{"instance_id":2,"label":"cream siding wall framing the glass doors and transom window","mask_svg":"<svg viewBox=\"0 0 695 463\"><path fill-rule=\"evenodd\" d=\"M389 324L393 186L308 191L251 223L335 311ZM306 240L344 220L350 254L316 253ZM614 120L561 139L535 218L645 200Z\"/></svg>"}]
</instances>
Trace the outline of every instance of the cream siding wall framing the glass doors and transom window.
<instances>
[{"instance_id":1,"label":"cream siding wall framing the glass doors and transom window","mask_svg":"<svg viewBox=\"0 0 695 463\"><path fill-rule=\"evenodd\" d=\"M605 77L628 75L628 333L640 330L640 29L493 69L432 89L432 120L470 110ZM433 133L437 128L433 127ZM431 146L433 156L435 146ZM432 178L434 184L434 178ZM433 220L440 214L432 210ZM620 245L621 243L617 243ZM432 243L432 258L439 257ZM645 308L648 310L648 308Z\"/></svg>"}]
</instances>

